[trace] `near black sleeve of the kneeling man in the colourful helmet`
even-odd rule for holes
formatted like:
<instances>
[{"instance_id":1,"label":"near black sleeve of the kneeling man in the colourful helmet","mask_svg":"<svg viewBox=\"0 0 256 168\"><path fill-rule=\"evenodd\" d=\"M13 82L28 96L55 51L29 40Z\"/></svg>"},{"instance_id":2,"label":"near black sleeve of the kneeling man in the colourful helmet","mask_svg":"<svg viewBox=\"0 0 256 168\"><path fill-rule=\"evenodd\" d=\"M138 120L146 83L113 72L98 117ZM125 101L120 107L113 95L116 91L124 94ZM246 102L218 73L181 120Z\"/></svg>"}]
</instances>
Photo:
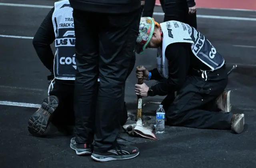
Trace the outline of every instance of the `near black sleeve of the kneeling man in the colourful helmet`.
<instances>
[{"instance_id":1,"label":"near black sleeve of the kneeling man in the colourful helmet","mask_svg":"<svg viewBox=\"0 0 256 168\"><path fill-rule=\"evenodd\" d=\"M151 87L154 96L165 96L179 90L188 74L190 55L186 43L174 43L167 46L165 56L168 60L168 79ZM153 75L152 75L153 76Z\"/></svg>"}]
</instances>

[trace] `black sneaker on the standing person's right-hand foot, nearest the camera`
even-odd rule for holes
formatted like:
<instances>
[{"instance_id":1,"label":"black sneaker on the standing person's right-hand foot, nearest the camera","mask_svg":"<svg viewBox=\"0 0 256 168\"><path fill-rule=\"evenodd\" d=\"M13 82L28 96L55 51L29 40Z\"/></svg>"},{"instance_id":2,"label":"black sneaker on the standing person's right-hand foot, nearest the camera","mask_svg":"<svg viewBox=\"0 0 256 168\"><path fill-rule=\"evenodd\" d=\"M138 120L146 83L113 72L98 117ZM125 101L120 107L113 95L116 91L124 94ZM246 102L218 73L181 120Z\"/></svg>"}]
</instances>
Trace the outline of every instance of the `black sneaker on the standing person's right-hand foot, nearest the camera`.
<instances>
[{"instance_id":1,"label":"black sneaker on the standing person's right-hand foot, nearest the camera","mask_svg":"<svg viewBox=\"0 0 256 168\"><path fill-rule=\"evenodd\" d=\"M110 160L125 160L135 158L139 155L139 149L134 146L126 146L124 144L117 144L114 149L107 152L93 152L91 157L98 162L106 162Z\"/></svg>"}]
</instances>

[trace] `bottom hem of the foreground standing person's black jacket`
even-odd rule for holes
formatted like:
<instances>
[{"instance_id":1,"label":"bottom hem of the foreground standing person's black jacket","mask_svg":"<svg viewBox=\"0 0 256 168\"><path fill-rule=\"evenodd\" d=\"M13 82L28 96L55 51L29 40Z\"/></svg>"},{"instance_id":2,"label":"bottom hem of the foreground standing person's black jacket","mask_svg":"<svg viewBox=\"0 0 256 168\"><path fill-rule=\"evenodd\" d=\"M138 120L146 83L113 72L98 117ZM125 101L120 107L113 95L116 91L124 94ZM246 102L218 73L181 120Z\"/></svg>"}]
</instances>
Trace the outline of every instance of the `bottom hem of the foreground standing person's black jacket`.
<instances>
[{"instance_id":1,"label":"bottom hem of the foreground standing person's black jacket","mask_svg":"<svg viewBox=\"0 0 256 168\"><path fill-rule=\"evenodd\" d=\"M121 14L140 8L140 0L69 0L74 9L86 12Z\"/></svg>"}]
</instances>

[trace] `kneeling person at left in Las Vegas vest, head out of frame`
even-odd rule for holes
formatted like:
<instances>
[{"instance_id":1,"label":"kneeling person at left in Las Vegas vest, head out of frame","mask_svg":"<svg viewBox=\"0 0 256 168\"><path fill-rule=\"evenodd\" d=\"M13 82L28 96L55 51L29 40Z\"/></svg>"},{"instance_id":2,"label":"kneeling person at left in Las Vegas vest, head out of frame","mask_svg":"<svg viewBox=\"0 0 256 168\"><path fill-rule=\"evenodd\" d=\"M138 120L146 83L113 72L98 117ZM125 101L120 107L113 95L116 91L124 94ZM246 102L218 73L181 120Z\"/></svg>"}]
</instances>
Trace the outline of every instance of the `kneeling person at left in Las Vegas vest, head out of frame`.
<instances>
[{"instance_id":1,"label":"kneeling person at left in Las Vegas vest, head out of frame","mask_svg":"<svg viewBox=\"0 0 256 168\"><path fill-rule=\"evenodd\" d=\"M54 8L43 20L33 39L33 46L38 57L52 73L48 76L50 80L48 97L43 100L41 107L28 121L28 130L35 136L46 135L50 122L65 133L72 133L69 126L74 126L75 122L73 97L76 74L76 38L72 13L73 9L68 0L55 2ZM55 56L50 46L53 42L56 48ZM131 64L130 72L134 64ZM120 124L124 125L127 118L124 103L124 111L120 114Z\"/></svg>"}]
</instances>

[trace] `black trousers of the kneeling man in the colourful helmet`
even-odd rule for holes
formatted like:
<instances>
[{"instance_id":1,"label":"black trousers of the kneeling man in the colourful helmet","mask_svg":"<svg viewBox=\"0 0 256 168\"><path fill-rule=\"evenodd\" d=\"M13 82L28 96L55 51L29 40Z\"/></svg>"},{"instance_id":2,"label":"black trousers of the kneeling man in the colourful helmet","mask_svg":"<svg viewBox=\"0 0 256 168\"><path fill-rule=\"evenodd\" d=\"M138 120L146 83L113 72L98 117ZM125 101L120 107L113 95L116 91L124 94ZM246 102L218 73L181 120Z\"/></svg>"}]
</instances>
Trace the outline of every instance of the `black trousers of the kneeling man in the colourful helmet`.
<instances>
[{"instance_id":1,"label":"black trousers of the kneeling man in the colourful helmet","mask_svg":"<svg viewBox=\"0 0 256 168\"><path fill-rule=\"evenodd\" d=\"M227 86L226 68L209 72L206 78L199 73L188 76L184 86L162 101L166 110L166 124L190 128L229 130L232 113L222 113L216 107L216 98Z\"/></svg>"}]
</instances>

